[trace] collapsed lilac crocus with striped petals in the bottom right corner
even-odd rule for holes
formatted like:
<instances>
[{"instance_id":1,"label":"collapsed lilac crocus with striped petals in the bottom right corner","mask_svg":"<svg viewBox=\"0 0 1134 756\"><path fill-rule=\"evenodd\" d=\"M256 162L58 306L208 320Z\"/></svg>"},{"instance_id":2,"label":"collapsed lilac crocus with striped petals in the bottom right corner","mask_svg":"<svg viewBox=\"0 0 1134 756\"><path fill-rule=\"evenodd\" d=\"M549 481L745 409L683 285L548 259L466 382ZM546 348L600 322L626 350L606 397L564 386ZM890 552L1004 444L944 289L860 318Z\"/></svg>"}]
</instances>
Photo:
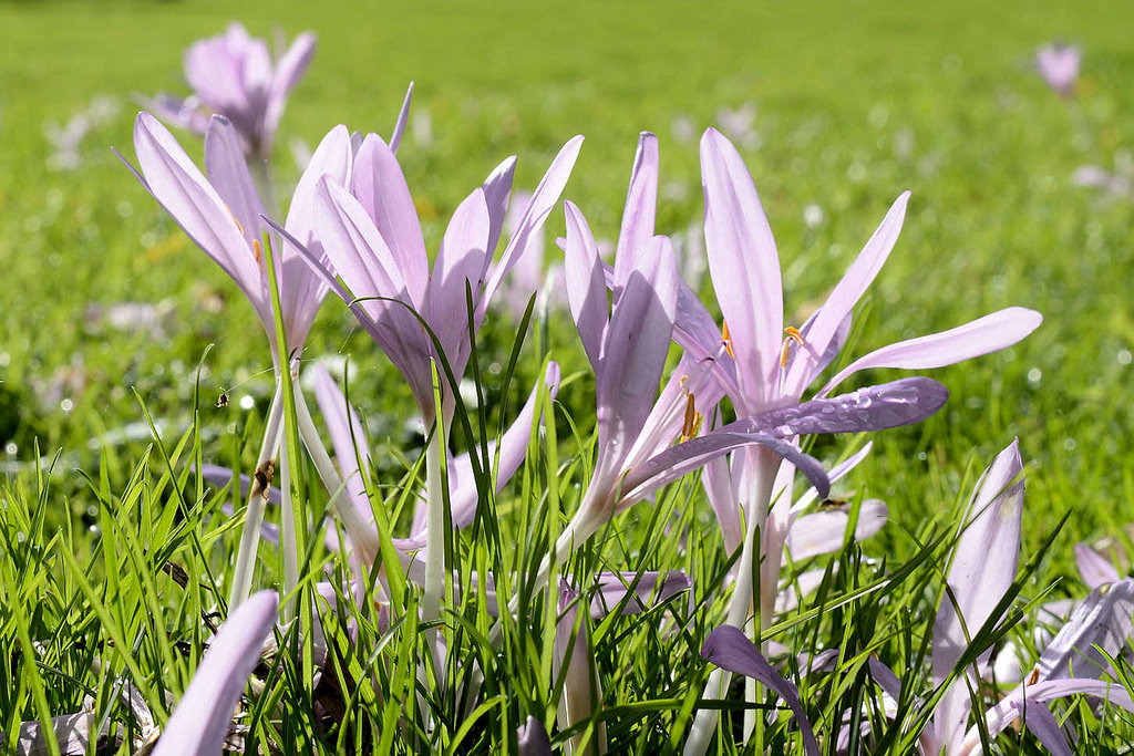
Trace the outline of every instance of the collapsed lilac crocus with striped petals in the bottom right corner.
<instances>
[{"instance_id":1,"label":"collapsed lilac crocus with striped petals in the bottom right corner","mask_svg":"<svg viewBox=\"0 0 1134 756\"><path fill-rule=\"evenodd\" d=\"M949 569L950 595L942 597L933 627L933 685L948 683L948 688L919 738L926 756L981 753L981 728L966 724L973 708L970 690L979 689L978 676L988 671L991 649L964 671L967 682L950 680L950 676L968 647L968 638L1000 619L992 611L1015 579L1024 503L1022 474L1018 443L1013 441L981 476L965 511ZM1084 694L1134 711L1128 691L1098 679L1107 671L1106 655L1114 656L1126 643L1132 614L1134 580L1095 588L1040 655L1027 679L983 714L989 737L1023 719L1050 753L1069 754L1066 738L1047 707L1049 702ZM900 697L902 683L892 671L877 659L871 660L870 670L886 694Z\"/></svg>"}]
</instances>

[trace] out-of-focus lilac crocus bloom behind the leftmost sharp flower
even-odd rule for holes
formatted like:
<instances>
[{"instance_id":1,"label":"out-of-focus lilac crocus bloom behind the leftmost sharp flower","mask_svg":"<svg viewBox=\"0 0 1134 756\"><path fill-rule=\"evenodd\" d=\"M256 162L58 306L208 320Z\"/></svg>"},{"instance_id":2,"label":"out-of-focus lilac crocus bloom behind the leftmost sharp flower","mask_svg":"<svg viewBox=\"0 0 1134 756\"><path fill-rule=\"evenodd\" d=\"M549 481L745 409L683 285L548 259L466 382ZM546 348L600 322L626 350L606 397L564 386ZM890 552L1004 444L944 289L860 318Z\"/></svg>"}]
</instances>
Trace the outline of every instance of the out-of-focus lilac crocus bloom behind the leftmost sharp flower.
<instances>
[{"instance_id":1,"label":"out-of-focus lilac crocus bloom behind the leftmost sharp flower","mask_svg":"<svg viewBox=\"0 0 1134 756\"><path fill-rule=\"evenodd\" d=\"M194 42L185 53L185 78L193 95L161 94L146 105L172 124L196 134L206 130L209 113L236 127L246 155L268 160L287 95L303 77L315 51L315 35L299 34L276 60L263 40L239 23L223 34Z\"/></svg>"}]
</instances>

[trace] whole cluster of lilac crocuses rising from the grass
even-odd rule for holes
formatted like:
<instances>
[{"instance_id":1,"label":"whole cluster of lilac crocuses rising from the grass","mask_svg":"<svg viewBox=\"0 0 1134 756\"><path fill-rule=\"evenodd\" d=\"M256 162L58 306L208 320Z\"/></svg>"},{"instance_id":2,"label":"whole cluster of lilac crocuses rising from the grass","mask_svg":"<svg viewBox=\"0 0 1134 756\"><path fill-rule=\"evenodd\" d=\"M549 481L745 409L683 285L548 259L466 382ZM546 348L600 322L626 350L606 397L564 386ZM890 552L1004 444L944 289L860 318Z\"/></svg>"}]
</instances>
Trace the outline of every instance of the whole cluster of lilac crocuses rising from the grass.
<instances>
[{"instance_id":1,"label":"whole cluster of lilac crocuses rising from the grass","mask_svg":"<svg viewBox=\"0 0 1134 756\"><path fill-rule=\"evenodd\" d=\"M150 729L142 745L156 741L156 754L219 753L240 693L272 645L273 627L281 619L303 621L293 603L302 588L297 529L311 523L303 521L304 508L291 500L293 482L306 469L296 464L296 443L313 462L333 511L327 543L347 555L353 569L353 584L345 592L321 584L320 601L333 602L346 593L358 603L367 576L375 576L373 598L384 612L382 627L389 629L398 611L389 601L389 586L414 586L421 596L415 619L424 626L424 646L433 656L422 660L417 695L423 688L443 689L447 649L438 628L447 621L443 610L457 601L446 538L469 526L485 502L503 495L560 388L559 364L544 359L526 401L497 438L483 450L450 450L458 418L467 417L458 411L459 387L493 298L497 306L505 299L503 306L519 320L536 289L551 288L542 275L545 227L560 206L583 137L566 141L531 190L513 192L516 158L489 170L457 205L431 252L398 156L407 95L388 141L341 125L331 128L298 178L286 213L278 214L271 197L264 196L271 189L266 173L259 173L257 167L271 155L286 95L307 66L313 44L310 34L301 35L273 60L263 41L234 24L187 53L186 77L195 94L184 101L161 97L152 103L156 116L142 112L135 122L137 179L244 294L268 337L276 377L256 467L244 476L247 507L238 512L239 551L225 576L231 613L160 739L152 717L145 720ZM1077 51L1041 50L1038 65L1052 86L1070 92ZM159 118L203 134L204 170ZM587 474L578 501L565 513L558 538L547 544L531 581L553 594L545 596L556 610L548 632L555 634L552 677L562 687L552 700L558 727L570 731L556 741L572 753L604 753L608 746L602 683L587 654L591 622L648 611L686 594L693 611L689 592L697 587L677 570L606 571L593 585L557 570L596 534L616 526L631 507L700 475L721 551L734 560L727 591L710 595L697 610L706 613L710 627L717 626L702 651L717 669L708 674L700 700L729 697L730 674L744 676L750 679L743 694L750 704L745 734L765 716L759 707L763 688L787 705L805 753L820 753L824 738L837 740L837 751L848 739L850 722L864 720L846 712L832 732L816 734L799 688L769 662L782 647L767 632L777 614L799 605L809 586L818 583L801 578L781 589L781 566L869 537L882 527L888 509L880 501L862 501L853 521L846 508L818 508L831 482L853 469L870 444L828 469L809 451L809 439L921 422L945 405L945 385L926 376L871 383L860 374L878 368L926 371L988 355L1025 338L1041 316L1009 307L873 348L856 359L841 358L854 308L896 247L909 193L897 197L826 300L802 322L788 323L785 312L794 311L785 308L779 252L741 153L710 128L701 137L700 161L703 250L713 294L709 301L682 279L674 241L657 228L659 141L652 134L638 139L612 264L600 254L579 205L570 199L561 205L561 289L593 374L594 442L583 452L593 450L593 457L583 466ZM551 230L559 236L559 229ZM501 244L503 238L507 244ZM374 494L375 452L357 411L318 355L305 351L328 291L373 338L414 399L413 414L424 430L424 475L405 483L414 502L408 527L399 528ZM541 309L542 317L555 315L548 307ZM313 377L323 432L298 380L301 365L308 363L313 366L305 369ZM843 366L832 371L836 364ZM856 388L837 393L852 376L857 377ZM296 427L288 427L291 417ZM218 484L234 476L214 466L202 473ZM1086 694L1134 710L1126 691L1102 679L1108 659L1131 629L1134 581L1120 579L1091 554L1082 559L1086 571L1102 576L1094 580L1094 593L1074 610L1019 686L988 711L973 706L970 691L989 676L991 648L974 648L972 638L981 628L997 626L1004 598L1014 589L1022 475L1014 442L985 472L957 530L933 628L931 679L943 693L919 736L925 754L978 753L982 734L995 736L1017 719L1052 753L1068 753L1066 733L1047 708L1060 696ZM279 528L264 521L271 501L281 503ZM279 595L253 593L262 587L254 586L254 576L264 540L280 552ZM502 605L496 588L501 580L516 585L523 576L475 578L490 594L491 617L510 613L517 619L518 594ZM674 623L667 630L687 634L689 627ZM312 632L327 656L318 617L313 627L301 631ZM497 634L485 638L499 642ZM820 671L815 660L803 673ZM929 693L911 691L877 659L870 661L870 676L890 700ZM477 694L463 691L474 700ZM719 705L691 713L685 754L700 756L713 738L723 736L719 714ZM90 719L81 720L87 739ZM428 711L418 724L425 733L439 727ZM528 717L515 733L521 753L551 753L550 724ZM27 742L37 733L28 729ZM869 727L858 734L869 738ZM33 753L32 747L24 753Z\"/></svg>"}]
</instances>

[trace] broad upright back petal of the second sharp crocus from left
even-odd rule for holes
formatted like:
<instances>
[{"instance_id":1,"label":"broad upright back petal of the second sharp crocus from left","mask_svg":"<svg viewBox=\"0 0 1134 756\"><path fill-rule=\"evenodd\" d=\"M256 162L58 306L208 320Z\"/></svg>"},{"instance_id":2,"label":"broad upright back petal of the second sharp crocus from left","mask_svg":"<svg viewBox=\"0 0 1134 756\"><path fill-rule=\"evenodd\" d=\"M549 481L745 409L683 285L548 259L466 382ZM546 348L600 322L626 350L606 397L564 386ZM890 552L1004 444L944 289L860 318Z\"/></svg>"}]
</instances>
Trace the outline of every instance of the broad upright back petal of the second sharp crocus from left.
<instances>
[{"instance_id":1,"label":"broad upright back petal of the second sharp crocus from left","mask_svg":"<svg viewBox=\"0 0 1134 756\"><path fill-rule=\"evenodd\" d=\"M397 261L409 292L409 304L421 312L429 281L425 240L398 159L376 134L367 134L355 155L350 192Z\"/></svg>"}]
</instances>

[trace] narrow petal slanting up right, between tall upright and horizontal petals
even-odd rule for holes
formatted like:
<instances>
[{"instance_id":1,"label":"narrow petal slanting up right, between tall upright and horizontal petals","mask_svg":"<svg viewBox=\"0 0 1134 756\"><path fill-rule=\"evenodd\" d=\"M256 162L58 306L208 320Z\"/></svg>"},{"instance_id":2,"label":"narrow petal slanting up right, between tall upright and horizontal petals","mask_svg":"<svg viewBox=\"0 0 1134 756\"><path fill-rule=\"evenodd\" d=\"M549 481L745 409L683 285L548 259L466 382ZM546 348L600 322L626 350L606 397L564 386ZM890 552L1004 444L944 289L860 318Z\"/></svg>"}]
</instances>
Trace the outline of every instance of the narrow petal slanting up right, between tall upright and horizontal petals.
<instances>
[{"instance_id":1,"label":"narrow petal slanting up right, between tall upright and horizontal petals","mask_svg":"<svg viewBox=\"0 0 1134 756\"><path fill-rule=\"evenodd\" d=\"M890 256L890 250L894 249L898 233L902 231L902 221L905 219L908 201L908 192L903 193L897 198L886 218L882 219L882 224L878 227L858 257L847 269L830 296L827 297L827 301L815 313L814 320L807 329L806 341L796 349L795 359L788 368L784 382L786 396L795 398L803 396L804 389L822 369L820 363L823 360L831 341L838 334L839 328L850 315L855 304L865 294L878 272L882 270L886 258Z\"/></svg>"}]
</instances>

